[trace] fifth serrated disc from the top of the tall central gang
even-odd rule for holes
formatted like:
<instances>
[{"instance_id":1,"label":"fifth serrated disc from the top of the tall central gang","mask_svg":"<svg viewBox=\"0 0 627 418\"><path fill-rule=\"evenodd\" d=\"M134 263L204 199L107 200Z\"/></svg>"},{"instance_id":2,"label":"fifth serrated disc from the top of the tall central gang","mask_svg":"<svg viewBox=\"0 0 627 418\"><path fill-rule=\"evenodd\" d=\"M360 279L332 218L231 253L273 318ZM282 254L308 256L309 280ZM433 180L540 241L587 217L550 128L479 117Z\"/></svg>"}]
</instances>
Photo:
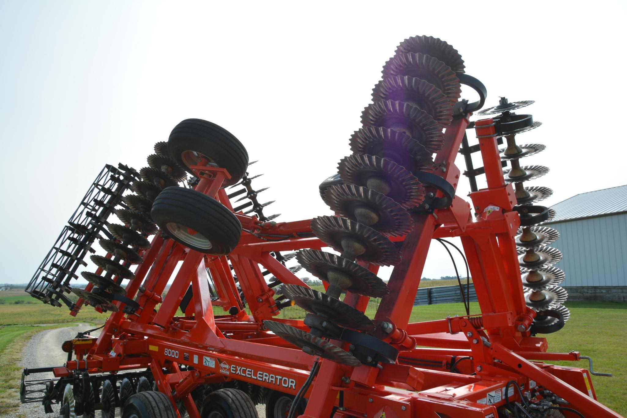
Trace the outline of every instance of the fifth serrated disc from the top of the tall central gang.
<instances>
[{"instance_id":1,"label":"fifth serrated disc from the top of the tall central gang","mask_svg":"<svg viewBox=\"0 0 627 418\"><path fill-rule=\"evenodd\" d=\"M356 130L350 137L350 150L354 154L376 155L417 171L434 167L433 152L415 139L397 130L383 127L366 127Z\"/></svg>"}]
</instances>

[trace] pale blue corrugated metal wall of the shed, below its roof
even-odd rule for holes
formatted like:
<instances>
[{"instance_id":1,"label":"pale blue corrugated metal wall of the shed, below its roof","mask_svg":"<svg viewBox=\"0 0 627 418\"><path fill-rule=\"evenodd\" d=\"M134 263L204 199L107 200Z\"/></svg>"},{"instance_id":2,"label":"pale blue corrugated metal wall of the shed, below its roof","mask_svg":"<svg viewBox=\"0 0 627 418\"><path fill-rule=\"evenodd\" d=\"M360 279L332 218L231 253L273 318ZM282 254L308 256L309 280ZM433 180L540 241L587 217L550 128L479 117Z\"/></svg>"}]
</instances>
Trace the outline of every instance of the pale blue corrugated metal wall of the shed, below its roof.
<instances>
[{"instance_id":1,"label":"pale blue corrugated metal wall of the shed, below its roof","mask_svg":"<svg viewBox=\"0 0 627 418\"><path fill-rule=\"evenodd\" d=\"M564 253L556 264L566 273L562 286L627 285L627 214L547 224L560 238L552 247Z\"/></svg>"}]
</instances>

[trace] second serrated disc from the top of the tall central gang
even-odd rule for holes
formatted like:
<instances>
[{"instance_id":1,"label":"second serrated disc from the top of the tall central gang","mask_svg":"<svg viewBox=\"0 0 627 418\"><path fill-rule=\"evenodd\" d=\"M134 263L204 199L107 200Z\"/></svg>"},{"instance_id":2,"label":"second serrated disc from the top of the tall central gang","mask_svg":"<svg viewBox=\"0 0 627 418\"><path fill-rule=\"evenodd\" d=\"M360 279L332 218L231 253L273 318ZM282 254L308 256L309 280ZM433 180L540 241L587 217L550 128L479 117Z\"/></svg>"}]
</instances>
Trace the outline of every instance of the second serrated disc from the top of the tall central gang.
<instances>
[{"instance_id":1,"label":"second serrated disc from the top of the tall central gang","mask_svg":"<svg viewBox=\"0 0 627 418\"><path fill-rule=\"evenodd\" d=\"M383 66L384 77L408 75L433 84L452 104L461 97L460 80L451 68L433 56L420 53L400 53Z\"/></svg>"}]
</instances>

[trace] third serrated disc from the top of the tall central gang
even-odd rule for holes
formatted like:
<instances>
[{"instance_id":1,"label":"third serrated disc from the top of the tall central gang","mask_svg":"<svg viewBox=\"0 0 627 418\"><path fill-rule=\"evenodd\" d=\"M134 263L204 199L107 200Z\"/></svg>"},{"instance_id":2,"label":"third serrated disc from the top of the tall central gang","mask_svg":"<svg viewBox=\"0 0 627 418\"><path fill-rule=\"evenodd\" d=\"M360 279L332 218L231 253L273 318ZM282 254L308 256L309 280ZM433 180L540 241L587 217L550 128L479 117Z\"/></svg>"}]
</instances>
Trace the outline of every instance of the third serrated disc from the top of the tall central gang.
<instances>
[{"instance_id":1,"label":"third serrated disc from the top of the tall central gang","mask_svg":"<svg viewBox=\"0 0 627 418\"><path fill-rule=\"evenodd\" d=\"M372 100L409 103L429 113L442 127L450 125L453 120L453 106L448 97L433 84L416 77L398 75L384 78L372 89Z\"/></svg>"}]
</instances>

